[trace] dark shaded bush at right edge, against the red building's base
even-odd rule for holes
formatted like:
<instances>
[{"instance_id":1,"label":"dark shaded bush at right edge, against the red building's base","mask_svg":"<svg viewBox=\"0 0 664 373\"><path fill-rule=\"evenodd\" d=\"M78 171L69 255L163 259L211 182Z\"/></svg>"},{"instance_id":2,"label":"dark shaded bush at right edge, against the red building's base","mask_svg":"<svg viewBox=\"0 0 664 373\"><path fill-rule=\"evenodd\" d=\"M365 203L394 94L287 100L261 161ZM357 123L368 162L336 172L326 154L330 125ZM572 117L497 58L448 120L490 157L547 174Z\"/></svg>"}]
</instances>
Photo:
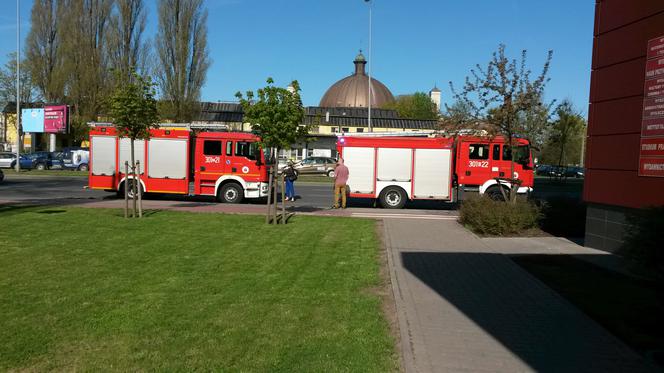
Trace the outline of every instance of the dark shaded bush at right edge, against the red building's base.
<instances>
[{"instance_id":1,"label":"dark shaded bush at right edge, against the red building's base","mask_svg":"<svg viewBox=\"0 0 664 373\"><path fill-rule=\"evenodd\" d=\"M649 271L664 284L664 206L638 211L629 217L620 254Z\"/></svg>"}]
</instances>

